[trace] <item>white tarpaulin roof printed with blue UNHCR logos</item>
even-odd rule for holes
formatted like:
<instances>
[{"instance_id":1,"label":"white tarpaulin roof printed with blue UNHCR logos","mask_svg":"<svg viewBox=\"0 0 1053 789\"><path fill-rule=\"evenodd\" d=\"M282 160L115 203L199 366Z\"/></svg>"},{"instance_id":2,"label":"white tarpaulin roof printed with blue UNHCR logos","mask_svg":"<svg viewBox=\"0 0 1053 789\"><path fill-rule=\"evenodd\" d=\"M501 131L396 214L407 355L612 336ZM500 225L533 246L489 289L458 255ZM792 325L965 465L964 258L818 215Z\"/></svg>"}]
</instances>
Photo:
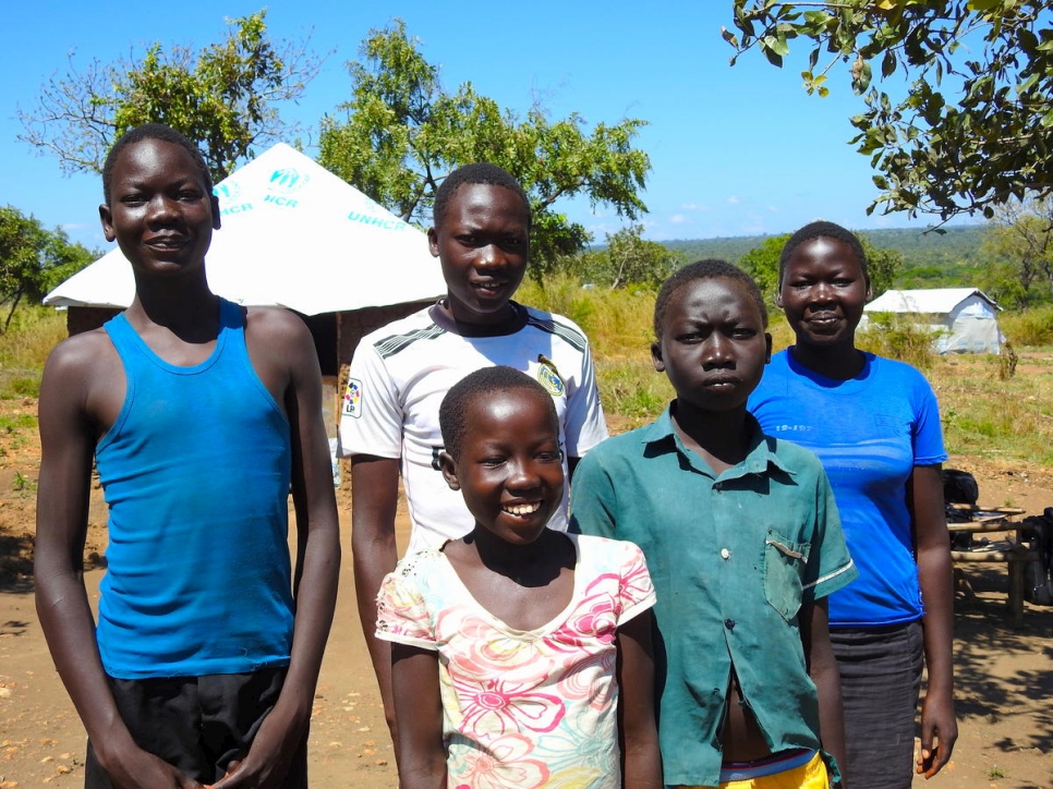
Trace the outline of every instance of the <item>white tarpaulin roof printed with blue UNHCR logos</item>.
<instances>
[{"instance_id":1,"label":"white tarpaulin roof printed with blue UNHCR logos","mask_svg":"<svg viewBox=\"0 0 1053 789\"><path fill-rule=\"evenodd\" d=\"M233 302L304 315L435 299L446 292L427 238L294 148L279 143L216 185L222 227L208 283ZM119 248L44 300L126 307L135 294Z\"/></svg>"}]
</instances>

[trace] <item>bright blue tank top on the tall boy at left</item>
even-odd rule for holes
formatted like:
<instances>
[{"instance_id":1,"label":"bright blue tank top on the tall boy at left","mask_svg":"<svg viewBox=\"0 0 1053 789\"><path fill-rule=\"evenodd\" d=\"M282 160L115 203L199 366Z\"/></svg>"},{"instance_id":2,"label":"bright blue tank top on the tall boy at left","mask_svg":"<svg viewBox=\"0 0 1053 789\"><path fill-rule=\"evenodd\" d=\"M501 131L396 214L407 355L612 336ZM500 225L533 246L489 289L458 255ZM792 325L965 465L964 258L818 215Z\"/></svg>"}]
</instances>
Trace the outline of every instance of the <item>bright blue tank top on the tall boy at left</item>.
<instances>
[{"instance_id":1,"label":"bright blue tank top on the tall boy at left","mask_svg":"<svg viewBox=\"0 0 1053 789\"><path fill-rule=\"evenodd\" d=\"M105 326L124 404L95 450L109 506L97 638L118 679L289 663L288 420L256 376L241 307L220 302L213 354L179 367L124 315Z\"/></svg>"}]
</instances>

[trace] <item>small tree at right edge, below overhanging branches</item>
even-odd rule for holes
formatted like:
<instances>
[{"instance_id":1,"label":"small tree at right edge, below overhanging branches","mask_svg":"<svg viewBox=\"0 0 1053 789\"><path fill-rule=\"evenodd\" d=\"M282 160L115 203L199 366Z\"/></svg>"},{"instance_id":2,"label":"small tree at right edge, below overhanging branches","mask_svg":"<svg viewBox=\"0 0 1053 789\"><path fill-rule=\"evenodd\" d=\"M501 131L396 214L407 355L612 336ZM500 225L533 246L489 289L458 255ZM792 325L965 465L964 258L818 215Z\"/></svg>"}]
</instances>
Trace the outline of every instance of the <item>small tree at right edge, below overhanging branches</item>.
<instances>
[{"instance_id":1,"label":"small tree at right edge, below overhanging branches","mask_svg":"<svg viewBox=\"0 0 1053 789\"><path fill-rule=\"evenodd\" d=\"M982 250L993 260L980 274L984 291L1003 305L1030 306L1053 295L1053 197L1010 201L997 208L983 234Z\"/></svg>"}]
</instances>

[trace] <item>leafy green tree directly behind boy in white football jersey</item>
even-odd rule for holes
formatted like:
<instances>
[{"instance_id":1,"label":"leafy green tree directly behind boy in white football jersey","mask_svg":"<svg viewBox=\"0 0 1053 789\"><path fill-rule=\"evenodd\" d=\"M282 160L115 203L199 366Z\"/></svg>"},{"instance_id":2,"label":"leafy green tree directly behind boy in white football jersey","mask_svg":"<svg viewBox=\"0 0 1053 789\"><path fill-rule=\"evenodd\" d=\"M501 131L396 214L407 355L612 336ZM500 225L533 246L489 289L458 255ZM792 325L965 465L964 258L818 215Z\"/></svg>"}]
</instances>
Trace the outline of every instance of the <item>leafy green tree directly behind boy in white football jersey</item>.
<instances>
[{"instance_id":1,"label":"leafy green tree directly behind boy in white football jersey","mask_svg":"<svg viewBox=\"0 0 1053 789\"><path fill-rule=\"evenodd\" d=\"M651 162L632 147L643 121L600 123L589 132L577 113L553 122L540 106L520 119L471 83L448 93L419 45L400 20L370 33L362 60L348 63L346 118L322 121L319 163L419 226L431 223L435 190L451 170L474 161L504 167L531 201L537 274L589 241L581 224L556 210L560 198L583 195L629 219L646 211L638 193Z\"/></svg>"}]
</instances>

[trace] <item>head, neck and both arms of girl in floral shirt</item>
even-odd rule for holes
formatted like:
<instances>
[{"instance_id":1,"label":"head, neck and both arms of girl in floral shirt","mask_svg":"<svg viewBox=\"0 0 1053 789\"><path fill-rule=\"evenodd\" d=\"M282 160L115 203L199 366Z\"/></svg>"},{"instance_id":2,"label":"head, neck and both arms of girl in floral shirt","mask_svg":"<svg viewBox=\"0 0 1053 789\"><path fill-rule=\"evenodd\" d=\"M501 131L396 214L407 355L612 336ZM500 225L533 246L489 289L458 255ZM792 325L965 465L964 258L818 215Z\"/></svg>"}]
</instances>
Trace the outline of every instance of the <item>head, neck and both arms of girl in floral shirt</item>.
<instances>
[{"instance_id":1,"label":"head, neck and both arms of girl in floral shirt","mask_svg":"<svg viewBox=\"0 0 1053 789\"><path fill-rule=\"evenodd\" d=\"M444 546L458 578L487 611L517 630L552 622L571 602L577 561L566 535L545 527L559 506L559 427L547 396L510 390L472 403L477 415L443 473L463 493L475 529ZM618 629L619 736L625 786L662 786L654 720L650 611ZM447 786L438 656L392 645L399 786Z\"/></svg>"}]
</instances>

